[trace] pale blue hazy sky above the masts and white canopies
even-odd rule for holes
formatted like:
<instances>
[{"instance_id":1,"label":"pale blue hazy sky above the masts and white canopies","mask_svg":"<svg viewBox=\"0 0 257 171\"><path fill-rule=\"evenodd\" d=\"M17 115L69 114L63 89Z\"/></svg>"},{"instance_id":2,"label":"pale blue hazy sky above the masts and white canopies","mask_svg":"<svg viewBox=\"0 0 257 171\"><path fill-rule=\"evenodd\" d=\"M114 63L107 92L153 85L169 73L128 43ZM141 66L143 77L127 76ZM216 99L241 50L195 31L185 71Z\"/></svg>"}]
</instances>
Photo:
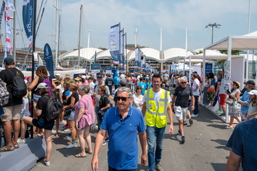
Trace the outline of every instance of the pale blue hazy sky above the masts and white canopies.
<instances>
[{"instance_id":1,"label":"pale blue hazy sky above the masts and white canopies","mask_svg":"<svg viewBox=\"0 0 257 171\"><path fill-rule=\"evenodd\" d=\"M89 47L108 48L110 26L121 23L127 33L127 44L135 43L138 29L138 44L160 49L162 28L162 50L185 49L185 29L188 30L188 50L206 47L211 42L209 23L219 23L214 29L214 42L226 36L247 34L247 0L59 0L60 2L60 50L77 49L79 40L79 9L84 5L82 19L82 47L87 47L88 29L91 31ZM17 14L21 16L22 2L17 1ZM38 1L38 10L41 1ZM45 15L36 40L36 47L49 43L55 49L56 0L48 1ZM257 30L256 1L252 1L250 32ZM19 17L20 18L20 17ZM22 19L19 24L22 25ZM22 28L17 28L22 29ZM4 30L1 31L2 33ZM21 31L19 31L21 33ZM23 31L23 34L25 32ZM2 38L3 42L3 38ZM17 47L27 47L27 38L17 35Z\"/></svg>"}]
</instances>

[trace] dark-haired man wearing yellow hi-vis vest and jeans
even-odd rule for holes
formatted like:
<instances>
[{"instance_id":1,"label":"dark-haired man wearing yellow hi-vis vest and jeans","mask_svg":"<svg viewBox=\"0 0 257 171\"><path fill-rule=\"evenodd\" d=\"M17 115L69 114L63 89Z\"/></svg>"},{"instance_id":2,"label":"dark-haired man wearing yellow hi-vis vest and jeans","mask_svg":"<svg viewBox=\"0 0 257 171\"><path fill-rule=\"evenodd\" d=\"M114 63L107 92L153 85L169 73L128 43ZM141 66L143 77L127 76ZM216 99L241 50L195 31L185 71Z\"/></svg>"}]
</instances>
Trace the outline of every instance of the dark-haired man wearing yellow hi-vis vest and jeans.
<instances>
[{"instance_id":1,"label":"dark-haired man wearing yellow hi-vis vest and jeans","mask_svg":"<svg viewBox=\"0 0 257 171\"><path fill-rule=\"evenodd\" d=\"M171 96L169 92L160 88L162 85L161 75L153 75L152 85L153 88L145 91L142 113L143 116L146 115L147 124L148 169L160 171L163 170L160 159L162 158L162 142L167 125L166 114L170 121L169 135L173 133Z\"/></svg>"}]
</instances>

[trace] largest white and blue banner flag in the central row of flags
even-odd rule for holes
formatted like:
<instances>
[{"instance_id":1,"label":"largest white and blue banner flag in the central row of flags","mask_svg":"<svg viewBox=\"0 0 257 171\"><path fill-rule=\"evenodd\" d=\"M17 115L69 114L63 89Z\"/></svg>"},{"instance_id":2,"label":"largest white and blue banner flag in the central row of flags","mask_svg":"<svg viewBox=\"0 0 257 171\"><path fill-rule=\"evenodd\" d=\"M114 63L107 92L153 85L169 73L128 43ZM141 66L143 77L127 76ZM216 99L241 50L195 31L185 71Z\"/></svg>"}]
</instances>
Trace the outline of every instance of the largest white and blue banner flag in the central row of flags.
<instances>
[{"instance_id":1,"label":"largest white and blue banner flag in the central row of flags","mask_svg":"<svg viewBox=\"0 0 257 171\"><path fill-rule=\"evenodd\" d=\"M119 24L110 27L109 49L113 64L119 65Z\"/></svg>"}]
</instances>

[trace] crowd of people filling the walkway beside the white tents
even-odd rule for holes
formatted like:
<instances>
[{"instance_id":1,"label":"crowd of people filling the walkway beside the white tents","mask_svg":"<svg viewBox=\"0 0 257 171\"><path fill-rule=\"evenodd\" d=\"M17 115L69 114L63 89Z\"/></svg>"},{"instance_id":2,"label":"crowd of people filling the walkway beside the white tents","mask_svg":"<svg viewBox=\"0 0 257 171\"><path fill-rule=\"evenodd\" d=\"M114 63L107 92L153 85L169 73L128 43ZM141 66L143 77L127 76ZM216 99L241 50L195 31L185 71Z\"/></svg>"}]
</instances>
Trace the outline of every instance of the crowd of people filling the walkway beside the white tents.
<instances>
[{"instance_id":1,"label":"crowd of people filling the walkway beside the white tents","mask_svg":"<svg viewBox=\"0 0 257 171\"><path fill-rule=\"evenodd\" d=\"M221 117L226 113L227 95L232 99L232 105L228 107L230 124L225 127L226 129L234 128L234 120L241 122L257 118L257 90L254 81L244 82L245 88L242 91L239 90L241 83L230 81L232 90L226 90L223 71L217 73L217 76L213 73L205 75L204 83L197 72L191 75L191 80L188 74L182 75L182 73L160 75L136 72L117 75L103 72L97 75L79 75L75 78L69 74L62 78L56 73L55 79L51 79L47 68L39 66L36 68L36 77L32 83L27 84L27 94L16 98L12 95L12 80L16 73L22 79L24 75L15 68L12 57L6 57L4 64L5 70L1 71L0 78L6 83L10 97L7 104L0 106L0 126L3 124L5 141L0 152L12 151L19 148L19 144L26 143L27 126L31 124L34 126L34 136L44 135L47 142L46 166L50 166L52 130L56 125L55 136L60 137L60 123L71 131L65 137L71 139L66 148L74 148L79 142L81 153L75 157L93 154L93 170L98 168L98 153L101 146L107 143L108 170L136 170L137 134L142 149L141 164L144 166L148 160L149 170L163 170L160 160L168 120L168 130L171 135L173 114L175 114L178 120L178 133L181 135L181 142L184 143L186 119L189 119L189 124L193 124L192 118L199 115L200 97L203 105L209 109L213 110L218 103L219 109L215 112ZM172 88L173 94L171 94ZM31 92L34 94L33 98L30 96ZM49 98L52 97L58 98L62 107L56 120L47 121L45 115ZM95 122L98 133L93 149L90 128ZM240 125L248 127L243 123L238 124L239 127ZM238 126L235 131L238 130ZM234 146L238 146L234 142L234 134L236 133L232 134L227 144L232 148L230 151L232 157L241 155L234 150ZM85 148L86 144L88 148ZM228 163L233 163L233 159L230 158Z\"/></svg>"}]
</instances>

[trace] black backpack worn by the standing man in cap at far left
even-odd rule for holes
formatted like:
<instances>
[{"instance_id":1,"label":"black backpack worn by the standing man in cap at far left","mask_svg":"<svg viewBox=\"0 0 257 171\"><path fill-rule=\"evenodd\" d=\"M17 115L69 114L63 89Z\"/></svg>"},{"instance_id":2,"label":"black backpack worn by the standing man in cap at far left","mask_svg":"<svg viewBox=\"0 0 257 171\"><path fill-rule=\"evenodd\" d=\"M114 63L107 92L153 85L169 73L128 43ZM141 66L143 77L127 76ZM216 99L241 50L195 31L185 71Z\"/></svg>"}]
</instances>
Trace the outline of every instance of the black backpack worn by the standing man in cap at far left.
<instances>
[{"instance_id":1,"label":"black backpack worn by the standing man in cap at far left","mask_svg":"<svg viewBox=\"0 0 257 171\"><path fill-rule=\"evenodd\" d=\"M10 70L11 73L13 73ZM15 74L15 73L14 73ZM16 70L16 74L14 78L12 79L12 95L16 98L23 98L27 94L27 86L23 78L21 78L21 75L18 70Z\"/></svg>"}]
</instances>

